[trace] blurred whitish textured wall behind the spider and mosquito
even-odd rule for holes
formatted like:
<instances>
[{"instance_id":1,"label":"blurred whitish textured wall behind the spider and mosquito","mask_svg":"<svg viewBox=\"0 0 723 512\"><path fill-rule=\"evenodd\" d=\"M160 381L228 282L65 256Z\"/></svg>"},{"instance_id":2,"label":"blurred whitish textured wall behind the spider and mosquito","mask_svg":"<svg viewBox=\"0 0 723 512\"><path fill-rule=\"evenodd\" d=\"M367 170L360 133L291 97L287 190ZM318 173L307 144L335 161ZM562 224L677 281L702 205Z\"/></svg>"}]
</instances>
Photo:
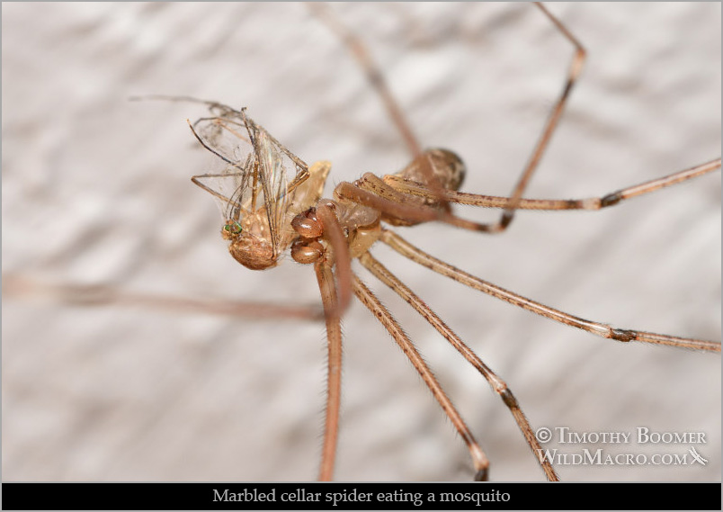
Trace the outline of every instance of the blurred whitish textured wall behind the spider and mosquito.
<instances>
[{"instance_id":1,"label":"blurred whitish textured wall behind the spider and mosquito","mask_svg":"<svg viewBox=\"0 0 723 512\"><path fill-rule=\"evenodd\" d=\"M3 4L4 481L305 481L317 475L322 323L85 304L52 286L317 304L311 267L252 272L191 175L214 167L182 94L246 106L327 184L406 148L348 49L303 4ZM513 187L573 49L527 4L331 4L463 189ZM720 155L720 4L550 4L588 50L528 197L610 193ZM492 220L491 211L465 209ZM520 212L491 237L398 232L492 283L620 328L720 339L720 175L598 212ZM620 344L465 290L375 247L510 386L533 428L704 432L705 466L560 465L567 481L719 481L720 358ZM486 382L359 268L418 344L497 481L544 479ZM469 481L469 454L368 311L344 318L336 478ZM688 454L690 445L560 445ZM690 460L690 455L689 455Z\"/></svg>"}]
</instances>

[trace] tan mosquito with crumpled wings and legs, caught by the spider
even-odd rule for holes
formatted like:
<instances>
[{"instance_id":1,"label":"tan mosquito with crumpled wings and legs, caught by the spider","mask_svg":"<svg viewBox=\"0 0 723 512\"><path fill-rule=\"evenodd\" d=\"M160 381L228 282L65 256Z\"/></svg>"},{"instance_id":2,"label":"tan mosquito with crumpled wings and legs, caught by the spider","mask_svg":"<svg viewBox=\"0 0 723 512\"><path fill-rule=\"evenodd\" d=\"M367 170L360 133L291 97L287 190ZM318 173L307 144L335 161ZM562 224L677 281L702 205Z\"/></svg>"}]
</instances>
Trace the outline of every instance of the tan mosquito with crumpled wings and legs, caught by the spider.
<instances>
[{"instance_id":1,"label":"tan mosquito with crumpled wings and legs, caught by the spider","mask_svg":"<svg viewBox=\"0 0 723 512\"><path fill-rule=\"evenodd\" d=\"M221 202L221 232L231 241L231 254L254 269L276 265L293 238L290 220L298 211L290 210L297 209L293 198L308 179L308 166L245 110L214 104L211 112L217 115L201 118L192 129L224 168L219 174L195 176L194 183Z\"/></svg>"}]
</instances>

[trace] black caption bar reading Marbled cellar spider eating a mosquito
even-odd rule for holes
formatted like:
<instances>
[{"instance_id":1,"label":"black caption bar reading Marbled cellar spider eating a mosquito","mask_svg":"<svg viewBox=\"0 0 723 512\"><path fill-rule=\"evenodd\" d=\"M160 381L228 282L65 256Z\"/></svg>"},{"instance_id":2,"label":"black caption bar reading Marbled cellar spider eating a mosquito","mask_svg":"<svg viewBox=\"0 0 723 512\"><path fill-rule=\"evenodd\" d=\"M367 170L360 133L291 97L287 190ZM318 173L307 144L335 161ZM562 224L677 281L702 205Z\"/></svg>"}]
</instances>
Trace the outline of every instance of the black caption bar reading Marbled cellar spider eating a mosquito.
<instances>
[{"instance_id":1,"label":"black caption bar reading Marbled cellar spider eating a mosquito","mask_svg":"<svg viewBox=\"0 0 723 512\"><path fill-rule=\"evenodd\" d=\"M720 483L4 483L4 510L720 510Z\"/></svg>"}]
</instances>

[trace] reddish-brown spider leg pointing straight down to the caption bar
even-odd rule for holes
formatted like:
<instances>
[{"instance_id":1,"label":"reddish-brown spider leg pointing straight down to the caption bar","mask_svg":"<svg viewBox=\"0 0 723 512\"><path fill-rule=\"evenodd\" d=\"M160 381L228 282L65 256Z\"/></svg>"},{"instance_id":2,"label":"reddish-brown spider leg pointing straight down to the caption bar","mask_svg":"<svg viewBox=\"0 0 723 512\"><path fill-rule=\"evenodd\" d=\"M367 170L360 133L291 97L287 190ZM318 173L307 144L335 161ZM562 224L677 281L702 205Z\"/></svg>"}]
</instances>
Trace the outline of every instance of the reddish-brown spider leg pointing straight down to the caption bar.
<instances>
[{"instance_id":1,"label":"reddish-brown spider leg pointing straight down to the caption bar","mask_svg":"<svg viewBox=\"0 0 723 512\"><path fill-rule=\"evenodd\" d=\"M332 267L326 261L314 264L326 316L326 339L328 341L328 373L326 381L326 420L324 446L321 453L319 481L334 478L336 441L339 434L339 411L342 397L342 327L336 299Z\"/></svg>"}]
</instances>

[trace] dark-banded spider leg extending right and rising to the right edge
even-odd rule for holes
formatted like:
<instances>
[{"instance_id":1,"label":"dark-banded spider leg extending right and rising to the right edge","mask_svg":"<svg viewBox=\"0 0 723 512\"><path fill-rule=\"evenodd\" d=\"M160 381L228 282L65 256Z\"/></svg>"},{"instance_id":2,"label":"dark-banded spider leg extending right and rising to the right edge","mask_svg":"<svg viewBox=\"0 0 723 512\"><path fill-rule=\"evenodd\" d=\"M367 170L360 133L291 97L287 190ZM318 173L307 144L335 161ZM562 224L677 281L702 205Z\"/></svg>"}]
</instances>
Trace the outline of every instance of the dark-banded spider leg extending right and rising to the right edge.
<instances>
[{"instance_id":1,"label":"dark-banded spider leg extending right and rising to the right edge","mask_svg":"<svg viewBox=\"0 0 723 512\"><path fill-rule=\"evenodd\" d=\"M706 175L720 168L720 158L693 166L683 171L678 171L672 175L666 175L641 184L631 185L618 191L607 193L599 197L590 197L586 199L520 199L517 203L517 210L601 210L613 204L643 195L655 192L661 188L679 184L692 178ZM385 175L383 178L385 184L394 188L398 193L406 193L427 200L434 200L434 194L424 186L424 184L411 182L396 175ZM477 193L463 193L456 191L447 191L447 200L457 204L469 204L471 206L481 206L484 208L508 208L512 204L512 198L500 197L495 195L482 195Z\"/></svg>"}]
</instances>

